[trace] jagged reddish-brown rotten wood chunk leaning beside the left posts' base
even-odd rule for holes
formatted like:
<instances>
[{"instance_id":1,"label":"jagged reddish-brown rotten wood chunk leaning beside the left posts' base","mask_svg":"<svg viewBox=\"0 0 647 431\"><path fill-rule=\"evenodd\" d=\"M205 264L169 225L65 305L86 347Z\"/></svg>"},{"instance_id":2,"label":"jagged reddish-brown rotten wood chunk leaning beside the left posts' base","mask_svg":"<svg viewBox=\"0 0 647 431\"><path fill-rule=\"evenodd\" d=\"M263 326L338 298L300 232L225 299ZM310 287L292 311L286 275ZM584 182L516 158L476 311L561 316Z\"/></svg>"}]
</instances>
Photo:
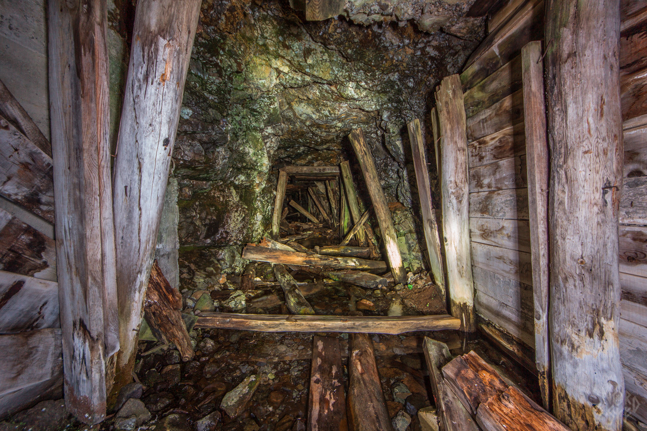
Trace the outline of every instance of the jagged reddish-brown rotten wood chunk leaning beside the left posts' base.
<instances>
[{"instance_id":1,"label":"jagged reddish-brown rotten wood chunk leaning beside the left posts' base","mask_svg":"<svg viewBox=\"0 0 647 431\"><path fill-rule=\"evenodd\" d=\"M194 353L181 310L181 293L171 287L155 260L144 299L144 318L155 338L164 344L175 344L182 361L186 362L193 358Z\"/></svg>"}]
</instances>

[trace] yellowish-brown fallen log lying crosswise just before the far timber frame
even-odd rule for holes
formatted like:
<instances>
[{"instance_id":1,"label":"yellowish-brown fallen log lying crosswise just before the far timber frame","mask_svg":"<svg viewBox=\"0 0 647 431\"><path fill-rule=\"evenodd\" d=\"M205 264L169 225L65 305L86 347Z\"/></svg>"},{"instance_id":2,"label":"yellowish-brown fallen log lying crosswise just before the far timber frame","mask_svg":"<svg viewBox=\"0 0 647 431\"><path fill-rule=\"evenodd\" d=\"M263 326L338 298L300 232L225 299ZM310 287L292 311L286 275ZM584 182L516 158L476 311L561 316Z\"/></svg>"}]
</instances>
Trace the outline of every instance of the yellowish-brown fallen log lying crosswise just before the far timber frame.
<instances>
[{"instance_id":1,"label":"yellowish-brown fallen log lying crosswise just before the far timber frame","mask_svg":"<svg viewBox=\"0 0 647 431\"><path fill-rule=\"evenodd\" d=\"M297 251L274 250L264 247L247 246L243 249L243 259L259 260L274 264L298 266L317 266L327 269L368 269L386 271L386 262L366 260L356 257L334 257L323 255L308 255Z\"/></svg>"}]
</instances>

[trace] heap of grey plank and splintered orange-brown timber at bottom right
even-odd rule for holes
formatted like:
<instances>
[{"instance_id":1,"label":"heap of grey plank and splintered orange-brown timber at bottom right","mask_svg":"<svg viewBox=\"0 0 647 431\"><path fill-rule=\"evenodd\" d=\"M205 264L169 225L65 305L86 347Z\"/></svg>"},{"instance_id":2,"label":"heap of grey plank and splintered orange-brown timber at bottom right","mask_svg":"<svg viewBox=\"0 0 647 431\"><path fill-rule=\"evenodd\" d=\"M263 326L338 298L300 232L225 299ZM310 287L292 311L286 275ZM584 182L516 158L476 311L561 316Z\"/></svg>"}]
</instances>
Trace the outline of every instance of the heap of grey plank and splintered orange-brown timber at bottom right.
<instances>
[{"instance_id":1,"label":"heap of grey plank and splintered orange-brown timber at bottom right","mask_svg":"<svg viewBox=\"0 0 647 431\"><path fill-rule=\"evenodd\" d=\"M474 351L452 359L446 344L426 338L424 356L441 430L569 430Z\"/></svg>"}]
</instances>

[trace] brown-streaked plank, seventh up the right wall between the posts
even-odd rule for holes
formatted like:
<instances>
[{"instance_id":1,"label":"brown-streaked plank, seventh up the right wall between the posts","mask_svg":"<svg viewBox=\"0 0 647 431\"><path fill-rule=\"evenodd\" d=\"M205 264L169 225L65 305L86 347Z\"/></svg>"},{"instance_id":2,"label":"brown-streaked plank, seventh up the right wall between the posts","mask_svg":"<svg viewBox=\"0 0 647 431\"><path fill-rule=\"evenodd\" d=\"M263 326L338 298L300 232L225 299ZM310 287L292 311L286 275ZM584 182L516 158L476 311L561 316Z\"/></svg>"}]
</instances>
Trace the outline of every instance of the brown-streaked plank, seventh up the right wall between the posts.
<instances>
[{"instance_id":1,"label":"brown-streaked plank, seventh up the right wall between the posts","mask_svg":"<svg viewBox=\"0 0 647 431\"><path fill-rule=\"evenodd\" d=\"M467 144L468 166L477 167L499 160L525 154L525 128L523 123L488 134Z\"/></svg>"}]
</instances>

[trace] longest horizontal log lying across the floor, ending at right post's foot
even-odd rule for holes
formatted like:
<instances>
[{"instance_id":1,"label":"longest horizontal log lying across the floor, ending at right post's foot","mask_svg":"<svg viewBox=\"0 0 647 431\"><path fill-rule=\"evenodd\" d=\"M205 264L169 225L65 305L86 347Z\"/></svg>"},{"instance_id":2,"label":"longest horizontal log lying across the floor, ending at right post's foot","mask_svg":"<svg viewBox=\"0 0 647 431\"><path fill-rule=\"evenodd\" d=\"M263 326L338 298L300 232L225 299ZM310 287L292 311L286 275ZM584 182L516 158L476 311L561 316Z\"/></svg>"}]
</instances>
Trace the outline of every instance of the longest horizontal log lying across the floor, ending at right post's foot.
<instances>
[{"instance_id":1,"label":"longest horizontal log lying across the floor, ending at right post's foot","mask_svg":"<svg viewBox=\"0 0 647 431\"><path fill-rule=\"evenodd\" d=\"M366 332L400 334L412 331L457 330L461 321L450 315L434 316L303 316L270 314L200 313L196 328L261 332Z\"/></svg>"}]
</instances>

